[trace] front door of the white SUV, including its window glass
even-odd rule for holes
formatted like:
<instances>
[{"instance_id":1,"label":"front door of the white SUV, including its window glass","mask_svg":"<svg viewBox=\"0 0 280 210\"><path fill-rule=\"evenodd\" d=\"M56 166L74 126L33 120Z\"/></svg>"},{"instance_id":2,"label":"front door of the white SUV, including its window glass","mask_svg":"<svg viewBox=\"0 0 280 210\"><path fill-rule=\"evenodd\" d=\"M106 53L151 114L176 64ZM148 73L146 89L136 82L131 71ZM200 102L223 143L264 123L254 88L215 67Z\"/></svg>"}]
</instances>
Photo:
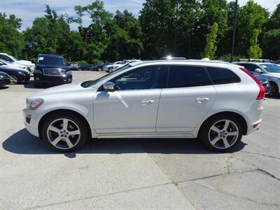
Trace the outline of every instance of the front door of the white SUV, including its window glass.
<instances>
[{"instance_id":1,"label":"front door of the white SUV, including its window glass","mask_svg":"<svg viewBox=\"0 0 280 210\"><path fill-rule=\"evenodd\" d=\"M155 132L160 83L165 66L145 66L110 81L116 91L102 87L94 99L94 130L102 133Z\"/></svg>"}]
</instances>

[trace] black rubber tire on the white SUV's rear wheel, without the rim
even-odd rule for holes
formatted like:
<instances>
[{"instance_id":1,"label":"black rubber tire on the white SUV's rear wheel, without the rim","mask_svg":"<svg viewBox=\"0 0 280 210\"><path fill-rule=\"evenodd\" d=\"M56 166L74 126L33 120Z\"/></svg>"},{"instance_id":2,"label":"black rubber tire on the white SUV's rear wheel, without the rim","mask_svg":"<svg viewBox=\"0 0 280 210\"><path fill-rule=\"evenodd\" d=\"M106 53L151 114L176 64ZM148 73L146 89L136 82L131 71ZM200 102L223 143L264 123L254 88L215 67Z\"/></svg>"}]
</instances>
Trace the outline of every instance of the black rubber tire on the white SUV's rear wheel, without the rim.
<instances>
[{"instance_id":1,"label":"black rubber tire on the white SUV's rear wheel, without the rim","mask_svg":"<svg viewBox=\"0 0 280 210\"><path fill-rule=\"evenodd\" d=\"M229 148L218 148L216 145L213 146L210 142L210 135L211 135L211 127L212 125L216 125L216 123L223 122L223 120L230 120L232 121L238 128L238 137L235 138L235 140L232 139L232 144L230 144ZM235 126L234 124L231 124L230 126ZM202 127L200 127L200 132L198 134L198 139L200 139L200 141L202 141L202 143L207 146L207 148L210 148L212 151L218 151L218 152L228 152L228 151L232 151L233 148L235 148L239 142L241 141L242 138L242 134L243 134L243 129L241 126L241 123L239 121L238 118L236 118L235 116L230 116L230 115L216 115L213 116L211 118L209 118L207 121L205 121L202 124ZM219 136L219 134L217 135L217 137ZM228 137L227 137L228 138ZM218 142L216 144L220 144L223 145L223 140L220 139L218 140Z\"/></svg>"}]
</instances>

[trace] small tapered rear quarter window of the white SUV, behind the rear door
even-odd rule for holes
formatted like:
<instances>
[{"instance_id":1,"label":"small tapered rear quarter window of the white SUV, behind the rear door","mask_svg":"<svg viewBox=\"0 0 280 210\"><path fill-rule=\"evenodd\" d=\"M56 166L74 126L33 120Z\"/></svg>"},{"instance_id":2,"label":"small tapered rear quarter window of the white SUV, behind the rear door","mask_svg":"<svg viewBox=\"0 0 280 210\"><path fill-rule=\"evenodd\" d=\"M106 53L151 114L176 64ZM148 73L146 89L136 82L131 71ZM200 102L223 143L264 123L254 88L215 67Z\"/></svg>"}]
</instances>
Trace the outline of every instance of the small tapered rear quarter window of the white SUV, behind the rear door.
<instances>
[{"instance_id":1,"label":"small tapered rear quarter window of the white SUV, behind the rear door","mask_svg":"<svg viewBox=\"0 0 280 210\"><path fill-rule=\"evenodd\" d=\"M240 83L240 78L233 71L223 68L207 67L215 85Z\"/></svg>"}]
</instances>

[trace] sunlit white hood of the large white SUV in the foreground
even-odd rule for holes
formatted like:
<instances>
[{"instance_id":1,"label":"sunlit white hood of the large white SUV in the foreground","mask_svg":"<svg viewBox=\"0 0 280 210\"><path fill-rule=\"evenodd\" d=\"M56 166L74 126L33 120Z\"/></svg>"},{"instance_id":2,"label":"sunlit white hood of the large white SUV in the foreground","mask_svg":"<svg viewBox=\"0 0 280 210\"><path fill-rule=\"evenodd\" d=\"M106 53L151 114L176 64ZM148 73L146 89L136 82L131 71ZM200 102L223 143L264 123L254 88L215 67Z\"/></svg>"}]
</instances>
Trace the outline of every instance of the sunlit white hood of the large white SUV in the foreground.
<instances>
[{"instance_id":1,"label":"sunlit white hood of the large white SUV in the foreground","mask_svg":"<svg viewBox=\"0 0 280 210\"><path fill-rule=\"evenodd\" d=\"M70 94L71 92L80 92L80 90L83 90L84 88L80 86L80 84L66 84L66 85L59 85L56 87L50 87L45 90L41 90L39 92L36 92L34 94L31 94L27 99L31 98L43 98L47 97L48 95L51 95L54 97L56 94Z\"/></svg>"}]
</instances>

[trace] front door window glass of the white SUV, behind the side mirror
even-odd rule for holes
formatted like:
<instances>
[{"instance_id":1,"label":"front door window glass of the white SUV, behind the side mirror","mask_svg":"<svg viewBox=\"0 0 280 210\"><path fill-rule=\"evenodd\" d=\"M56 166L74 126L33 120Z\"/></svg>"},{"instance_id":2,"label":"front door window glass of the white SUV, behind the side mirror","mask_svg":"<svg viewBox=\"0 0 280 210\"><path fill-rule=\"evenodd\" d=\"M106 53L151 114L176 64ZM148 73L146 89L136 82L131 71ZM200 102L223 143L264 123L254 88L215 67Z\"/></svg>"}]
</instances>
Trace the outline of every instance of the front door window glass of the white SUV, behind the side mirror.
<instances>
[{"instance_id":1,"label":"front door window glass of the white SUV, behind the side mirror","mask_svg":"<svg viewBox=\"0 0 280 210\"><path fill-rule=\"evenodd\" d=\"M145 66L128 71L121 76L113 78L117 90L141 90L160 87L162 83L162 71L167 66Z\"/></svg>"}]
</instances>

